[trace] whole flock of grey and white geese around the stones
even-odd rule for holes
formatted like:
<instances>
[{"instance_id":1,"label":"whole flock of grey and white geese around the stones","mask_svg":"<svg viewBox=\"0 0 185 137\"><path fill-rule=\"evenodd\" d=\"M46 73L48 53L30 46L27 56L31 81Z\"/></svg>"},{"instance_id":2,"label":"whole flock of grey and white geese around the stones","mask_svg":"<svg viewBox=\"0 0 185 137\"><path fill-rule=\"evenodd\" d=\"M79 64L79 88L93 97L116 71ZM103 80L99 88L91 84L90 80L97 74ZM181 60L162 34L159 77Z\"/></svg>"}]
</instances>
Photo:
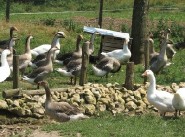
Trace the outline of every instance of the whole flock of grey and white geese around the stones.
<instances>
[{"instance_id":1,"label":"whole flock of grey and white geese around the stones","mask_svg":"<svg viewBox=\"0 0 185 137\"><path fill-rule=\"evenodd\" d=\"M16 27L11 27L10 38L0 41L0 82L5 81L13 70L14 45L18 39L13 36L14 31L18 31L18 29ZM88 42L88 54L90 58L93 57L94 41L97 34L97 32L91 34L90 41ZM142 76L147 76L150 81L147 91L148 101L160 111L161 115L164 116L166 112L176 111L175 115L177 116L177 111L185 110L185 88L179 89L175 94L158 91L156 90L154 76L154 74L158 74L164 67L168 66L169 60L171 61L176 53L173 49L173 43L168 38L169 34L169 29L160 33L159 53L155 51L152 36L149 35L150 66ZM81 42L83 41L83 36L77 36L76 49L73 52L61 54L60 39L65 37L65 33L59 31L54 35L51 44L43 44L31 49L30 43L33 36L29 35L26 38L25 51L22 55L19 55L19 70L22 79L31 84L37 84L37 88L39 88L40 85L44 87L46 91L46 113L59 122L88 118L88 116L81 113L75 106L66 102L52 102L49 85L44 81L45 78L53 72L53 63L58 63L63 67L56 68L55 70L63 76L70 77L71 84L73 83L72 79L75 78L74 84L76 84L76 78L81 72ZM102 52L98 58L93 59L92 70L94 75L103 77L107 76L109 73L116 73L120 70L122 65L129 61L131 57L131 52L128 48L129 39L124 39L122 43L122 49ZM32 57L34 57L34 59ZM25 75L27 67L31 67L32 72Z\"/></svg>"}]
</instances>

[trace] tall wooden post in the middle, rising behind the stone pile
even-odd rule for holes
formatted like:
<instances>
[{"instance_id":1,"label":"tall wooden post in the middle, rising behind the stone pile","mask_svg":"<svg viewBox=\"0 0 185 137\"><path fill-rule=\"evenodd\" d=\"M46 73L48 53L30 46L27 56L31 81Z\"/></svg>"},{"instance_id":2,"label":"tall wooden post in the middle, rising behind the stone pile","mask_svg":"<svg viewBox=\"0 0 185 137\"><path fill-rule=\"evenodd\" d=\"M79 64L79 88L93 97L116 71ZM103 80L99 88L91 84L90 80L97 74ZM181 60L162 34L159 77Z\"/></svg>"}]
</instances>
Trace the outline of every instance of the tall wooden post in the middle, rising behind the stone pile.
<instances>
[{"instance_id":1,"label":"tall wooden post in the middle, rising behind the stone pile","mask_svg":"<svg viewBox=\"0 0 185 137\"><path fill-rule=\"evenodd\" d=\"M83 43L82 46L82 67L80 73L80 86L83 86L87 83L87 68L89 64L89 41Z\"/></svg>"}]
</instances>

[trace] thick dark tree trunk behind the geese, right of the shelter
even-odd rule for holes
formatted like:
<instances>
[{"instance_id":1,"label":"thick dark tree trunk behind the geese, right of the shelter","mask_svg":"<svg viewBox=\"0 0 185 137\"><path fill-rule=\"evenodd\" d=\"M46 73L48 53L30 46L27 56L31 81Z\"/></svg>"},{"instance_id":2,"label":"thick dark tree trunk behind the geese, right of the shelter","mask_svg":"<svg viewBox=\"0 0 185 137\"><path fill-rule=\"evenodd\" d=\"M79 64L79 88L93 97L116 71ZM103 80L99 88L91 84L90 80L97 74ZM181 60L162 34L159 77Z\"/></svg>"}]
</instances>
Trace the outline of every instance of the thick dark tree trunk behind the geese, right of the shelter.
<instances>
[{"instance_id":1,"label":"thick dark tree trunk behind the geese, right of the shelter","mask_svg":"<svg viewBox=\"0 0 185 137\"><path fill-rule=\"evenodd\" d=\"M144 46L148 34L148 7L149 0L134 0L131 37L131 61L134 64L144 63Z\"/></svg>"}]
</instances>

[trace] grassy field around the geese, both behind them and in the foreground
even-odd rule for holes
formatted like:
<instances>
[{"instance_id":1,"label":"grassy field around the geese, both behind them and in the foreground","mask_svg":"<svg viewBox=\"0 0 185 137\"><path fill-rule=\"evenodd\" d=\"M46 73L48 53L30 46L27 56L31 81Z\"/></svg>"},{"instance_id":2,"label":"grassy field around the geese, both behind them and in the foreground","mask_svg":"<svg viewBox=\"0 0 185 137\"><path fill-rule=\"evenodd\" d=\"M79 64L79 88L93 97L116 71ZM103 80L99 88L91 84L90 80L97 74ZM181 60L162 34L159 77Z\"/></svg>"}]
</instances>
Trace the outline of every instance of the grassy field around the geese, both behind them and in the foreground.
<instances>
[{"instance_id":1,"label":"grassy field around the geese, both behind them and in the foreground","mask_svg":"<svg viewBox=\"0 0 185 137\"><path fill-rule=\"evenodd\" d=\"M120 1L121 2L121 1ZM152 1L153 2L153 1ZM185 34L185 16L184 16L184 7L182 6L183 1L176 2L176 5L173 5L173 1L168 1L169 3L163 3L163 6L166 7L178 7L178 9L174 8L171 10L158 8L156 3L151 4L151 9L149 12L149 29L154 33L154 41L155 48L158 50L158 32L162 29L170 28L172 30L172 34L170 38L177 43L178 41L182 41ZM125 3L121 3L122 5L126 5ZM120 4L120 5L121 5ZM107 8L108 11L104 11L103 13L103 28L111 29L115 31L123 31L123 32L131 32L131 23L132 23L132 4L128 2L129 8L115 8L116 5L113 5L112 9L110 7ZM79 9L75 9L76 7L69 8L78 10L76 12L69 11L65 12L66 9L60 10L60 8L51 8L51 10L47 9L47 5L45 8L42 6L32 7L30 5L22 5L15 4L17 9L14 7L12 9L12 14L10 16L10 22L6 23L4 20L4 14L0 14L0 39L8 38L9 36L9 27L16 26L19 31L17 32L20 40L16 44L16 50L18 54L21 54L24 50L24 42L25 38L28 34L32 34L34 39L31 41L31 47L34 48L43 43L51 43L54 33L58 30L64 31L67 35L67 38L61 40L61 52L67 53L69 51L73 51L76 36L78 34L83 34L86 40L90 39L90 35L83 32L83 26L91 25L97 27L97 18L98 18L98 6L94 6L94 3L91 6L92 10L95 9L95 12L92 10L88 11L80 11ZM85 4L84 4L85 5ZM110 5L107 4L107 5ZM22 6L22 8L21 8ZM104 5L106 7L106 4ZM26 7L26 8L25 8ZM157 8L156 8L157 7ZM37 13L37 14L23 14L25 12L35 12L39 11L39 8L43 8L44 11L57 11L57 13ZM86 5L87 8L87 5ZM20 11L22 9L22 11ZM27 9L27 10L25 10ZM105 8L106 9L106 8ZM113 10L120 9L120 10ZM84 10L84 9L82 9ZM87 9L85 9L87 10ZM22 14L18 14L17 12L22 12ZM17 13L17 14L16 14ZM99 49L100 45L100 37L97 37L95 40L95 53ZM179 84L180 82L185 82L185 54L184 50L177 51L173 64L165 68L160 75L156 76L157 84L159 85L171 85L172 83ZM54 67L60 67L57 64L54 64ZM30 72L31 69L28 69L27 72ZM141 78L141 74L144 71L144 67L142 64L135 66L135 74L134 81L135 83L143 83L143 78ZM124 83L125 82L125 66L122 66L121 71L116 73L113 76L109 76L108 81L103 78L95 77L91 70L91 65L88 68L88 82L91 83ZM53 72L50 77L47 79L50 81L50 87L70 87L69 78L63 77L59 75L57 72ZM29 83L22 81L20 77L20 87L23 89L35 89L36 86L32 86ZM1 91L3 89L12 88L12 81L6 81L0 84ZM2 97L1 97L2 98ZM98 137L107 137L107 136L184 136L184 116L179 119L173 118L161 118L157 113L146 114L142 116L125 116L125 115L116 115L112 116L109 113L103 113L99 116L94 116L87 121L77 121L74 123L64 123L64 124L47 124L43 126L44 121L40 123L35 122L27 122L28 125L32 125L36 123L33 129L37 129L39 126L39 130L44 130L47 132L50 131L58 131L57 134L61 136L98 136ZM48 121L47 121L48 122ZM11 123L11 122L9 122ZM31 123L31 124L29 124ZM36 126L37 125L37 126ZM32 132L26 128L25 124L16 124L13 126L20 128L21 131L25 131L25 134L22 136L28 136ZM1 126L3 127L3 126ZM28 126L29 127L29 126ZM8 126L7 126L8 129ZM16 132L18 132L17 130ZM12 135L16 136L16 135Z\"/></svg>"}]
</instances>

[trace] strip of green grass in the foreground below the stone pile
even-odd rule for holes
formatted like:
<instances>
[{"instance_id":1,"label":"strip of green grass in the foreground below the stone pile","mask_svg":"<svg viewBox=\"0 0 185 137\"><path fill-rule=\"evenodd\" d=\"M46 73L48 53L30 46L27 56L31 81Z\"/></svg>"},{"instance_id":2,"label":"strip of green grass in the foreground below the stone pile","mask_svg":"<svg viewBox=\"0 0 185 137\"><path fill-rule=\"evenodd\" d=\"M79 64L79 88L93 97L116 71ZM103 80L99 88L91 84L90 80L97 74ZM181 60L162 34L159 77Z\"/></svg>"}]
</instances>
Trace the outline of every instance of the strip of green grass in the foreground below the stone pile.
<instances>
[{"instance_id":1,"label":"strip of green grass in the foreground below the stone pile","mask_svg":"<svg viewBox=\"0 0 185 137\"><path fill-rule=\"evenodd\" d=\"M83 137L182 137L185 135L184 118L161 118L154 114L124 116L103 113L88 120L62 124L48 124L45 131L58 131L61 136L74 137L80 133Z\"/></svg>"}]
</instances>

